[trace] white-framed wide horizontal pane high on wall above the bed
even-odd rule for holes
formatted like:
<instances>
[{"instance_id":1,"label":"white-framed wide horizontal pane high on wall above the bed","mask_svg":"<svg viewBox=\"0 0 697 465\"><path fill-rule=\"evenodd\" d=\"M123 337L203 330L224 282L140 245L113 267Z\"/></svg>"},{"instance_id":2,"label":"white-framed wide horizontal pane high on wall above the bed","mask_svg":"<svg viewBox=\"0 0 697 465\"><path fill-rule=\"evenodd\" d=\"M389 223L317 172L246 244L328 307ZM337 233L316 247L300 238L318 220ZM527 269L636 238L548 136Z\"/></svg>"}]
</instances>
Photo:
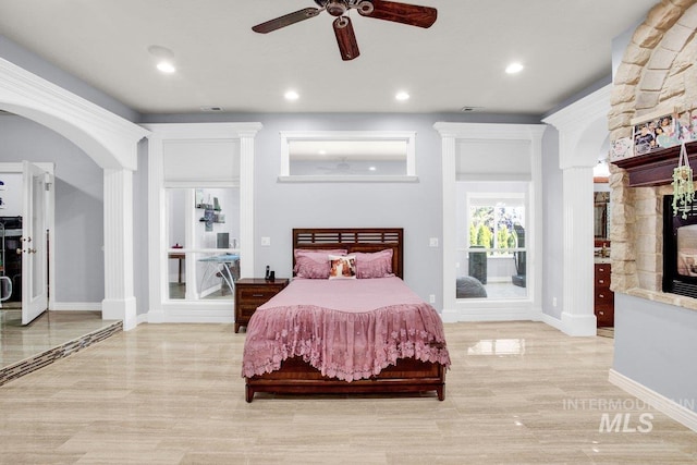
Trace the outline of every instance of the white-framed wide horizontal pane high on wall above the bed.
<instances>
[{"instance_id":1,"label":"white-framed wide horizontal pane high on wall above the bed","mask_svg":"<svg viewBox=\"0 0 697 465\"><path fill-rule=\"evenodd\" d=\"M413 132L281 133L281 180L415 179ZM409 179L411 178L411 179Z\"/></svg>"}]
</instances>

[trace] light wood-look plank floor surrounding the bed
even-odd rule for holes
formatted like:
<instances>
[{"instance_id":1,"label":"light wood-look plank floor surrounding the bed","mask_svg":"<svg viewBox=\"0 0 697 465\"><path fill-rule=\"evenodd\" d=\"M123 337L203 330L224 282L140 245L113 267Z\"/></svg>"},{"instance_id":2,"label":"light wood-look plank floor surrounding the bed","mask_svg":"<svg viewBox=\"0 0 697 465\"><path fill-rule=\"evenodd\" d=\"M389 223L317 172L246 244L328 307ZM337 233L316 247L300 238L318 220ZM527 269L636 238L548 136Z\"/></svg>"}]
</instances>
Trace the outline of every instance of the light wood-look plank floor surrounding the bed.
<instances>
[{"instance_id":1,"label":"light wood-look plank floor surrounding the bed","mask_svg":"<svg viewBox=\"0 0 697 465\"><path fill-rule=\"evenodd\" d=\"M608 382L612 339L539 322L445 331L453 365L443 402L257 394L246 403L244 332L140 325L1 387L0 463L697 463L697 433ZM599 406L609 402L623 406ZM646 413L650 431L599 431L603 414L629 414L636 427Z\"/></svg>"}]
</instances>

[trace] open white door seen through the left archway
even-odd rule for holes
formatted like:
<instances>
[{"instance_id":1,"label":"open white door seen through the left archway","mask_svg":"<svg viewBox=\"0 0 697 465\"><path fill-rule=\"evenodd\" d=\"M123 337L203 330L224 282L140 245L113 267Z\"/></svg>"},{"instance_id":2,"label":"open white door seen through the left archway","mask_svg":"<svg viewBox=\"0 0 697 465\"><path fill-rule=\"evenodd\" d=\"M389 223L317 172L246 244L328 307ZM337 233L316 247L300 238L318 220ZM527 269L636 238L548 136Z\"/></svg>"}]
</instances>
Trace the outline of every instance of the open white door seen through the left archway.
<instances>
[{"instance_id":1,"label":"open white door seen through the left archway","mask_svg":"<svg viewBox=\"0 0 697 465\"><path fill-rule=\"evenodd\" d=\"M47 209L52 203L51 175L24 161L22 210L22 325L48 308Z\"/></svg>"}]
</instances>

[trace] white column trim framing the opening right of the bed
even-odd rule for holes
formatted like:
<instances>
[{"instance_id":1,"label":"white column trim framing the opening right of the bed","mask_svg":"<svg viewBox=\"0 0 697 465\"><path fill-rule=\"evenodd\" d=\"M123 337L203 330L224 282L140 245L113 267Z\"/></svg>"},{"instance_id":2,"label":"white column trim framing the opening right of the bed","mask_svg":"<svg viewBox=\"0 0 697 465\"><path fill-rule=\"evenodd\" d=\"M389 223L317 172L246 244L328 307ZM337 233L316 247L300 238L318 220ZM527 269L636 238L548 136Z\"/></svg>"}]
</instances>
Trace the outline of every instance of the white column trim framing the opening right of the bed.
<instances>
[{"instance_id":1,"label":"white column trim framing the opening right of the bed","mask_svg":"<svg viewBox=\"0 0 697 465\"><path fill-rule=\"evenodd\" d=\"M442 138L443 188L443 320L448 321L510 321L541 319L542 289L542 149L545 124L482 124L443 123L433 127ZM456 155L460 140L528 140L530 150L530 181L527 193L528 218L526 230L528 250L528 297L526 299L491 299L463 302L455 293L456 250Z\"/></svg>"}]
</instances>

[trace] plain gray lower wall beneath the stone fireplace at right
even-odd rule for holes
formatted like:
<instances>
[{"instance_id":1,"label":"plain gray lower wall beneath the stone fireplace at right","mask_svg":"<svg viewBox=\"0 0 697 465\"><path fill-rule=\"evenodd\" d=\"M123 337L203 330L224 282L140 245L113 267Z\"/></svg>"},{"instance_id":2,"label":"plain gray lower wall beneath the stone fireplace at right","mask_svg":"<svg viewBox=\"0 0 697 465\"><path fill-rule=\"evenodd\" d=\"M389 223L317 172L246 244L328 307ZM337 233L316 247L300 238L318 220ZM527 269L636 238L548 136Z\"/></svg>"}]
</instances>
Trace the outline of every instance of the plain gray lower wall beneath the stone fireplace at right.
<instances>
[{"instance_id":1,"label":"plain gray lower wall beneath the stone fireplace at right","mask_svg":"<svg viewBox=\"0 0 697 465\"><path fill-rule=\"evenodd\" d=\"M697 412L697 311L615 294L613 368Z\"/></svg>"}]
</instances>

